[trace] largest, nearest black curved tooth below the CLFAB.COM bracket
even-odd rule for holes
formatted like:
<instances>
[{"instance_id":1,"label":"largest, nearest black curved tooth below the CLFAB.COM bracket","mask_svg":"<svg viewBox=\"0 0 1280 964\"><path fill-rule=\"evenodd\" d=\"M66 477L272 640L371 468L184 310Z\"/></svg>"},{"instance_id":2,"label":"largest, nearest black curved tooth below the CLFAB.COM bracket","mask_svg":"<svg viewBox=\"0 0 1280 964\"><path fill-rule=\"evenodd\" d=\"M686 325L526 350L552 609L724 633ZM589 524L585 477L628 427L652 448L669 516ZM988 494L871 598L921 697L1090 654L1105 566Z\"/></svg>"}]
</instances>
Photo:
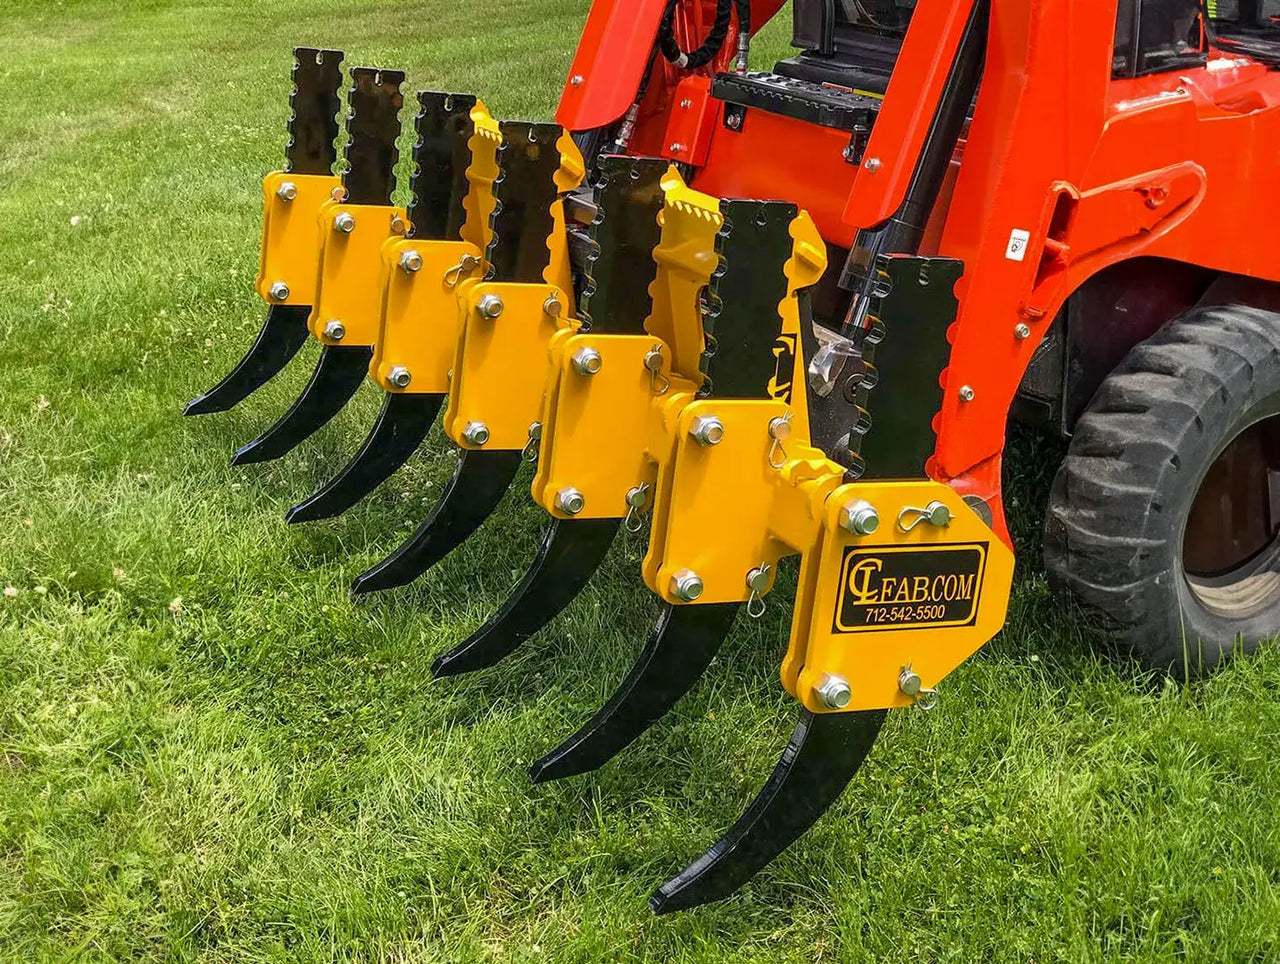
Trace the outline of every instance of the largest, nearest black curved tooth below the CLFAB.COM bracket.
<instances>
[{"instance_id":1,"label":"largest, nearest black curved tooth below the CLFAB.COM bracket","mask_svg":"<svg viewBox=\"0 0 1280 964\"><path fill-rule=\"evenodd\" d=\"M844 792L879 735L887 711L805 711L768 783L737 823L649 897L655 914L722 900L786 850Z\"/></svg>"}]
</instances>

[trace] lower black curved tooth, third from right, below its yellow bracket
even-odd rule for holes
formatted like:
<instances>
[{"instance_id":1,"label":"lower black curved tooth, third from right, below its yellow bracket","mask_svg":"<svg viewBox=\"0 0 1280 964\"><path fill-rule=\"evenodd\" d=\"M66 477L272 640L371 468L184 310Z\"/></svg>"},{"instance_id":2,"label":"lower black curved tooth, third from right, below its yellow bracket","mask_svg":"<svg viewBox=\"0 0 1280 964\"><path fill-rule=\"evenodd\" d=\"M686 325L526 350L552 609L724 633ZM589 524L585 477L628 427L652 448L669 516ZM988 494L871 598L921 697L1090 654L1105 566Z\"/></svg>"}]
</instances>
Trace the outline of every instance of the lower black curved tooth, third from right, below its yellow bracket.
<instances>
[{"instance_id":1,"label":"lower black curved tooth, third from right, below its yellow bracket","mask_svg":"<svg viewBox=\"0 0 1280 964\"><path fill-rule=\"evenodd\" d=\"M484 670L513 653L582 591L621 525L621 518L554 520L538 558L502 609L431 663L431 675L440 679Z\"/></svg>"}]
</instances>

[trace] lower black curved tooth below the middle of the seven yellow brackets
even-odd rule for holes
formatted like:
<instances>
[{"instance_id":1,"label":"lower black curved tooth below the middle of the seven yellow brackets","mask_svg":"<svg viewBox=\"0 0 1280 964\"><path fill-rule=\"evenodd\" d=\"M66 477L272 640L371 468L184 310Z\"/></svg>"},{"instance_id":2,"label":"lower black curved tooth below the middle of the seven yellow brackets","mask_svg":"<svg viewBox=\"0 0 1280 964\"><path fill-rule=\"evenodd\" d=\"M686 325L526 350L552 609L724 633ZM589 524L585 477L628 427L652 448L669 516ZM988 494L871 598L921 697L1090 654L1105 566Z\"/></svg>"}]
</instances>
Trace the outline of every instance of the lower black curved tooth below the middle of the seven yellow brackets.
<instances>
[{"instance_id":1,"label":"lower black curved tooth below the middle of the seven yellow brackets","mask_svg":"<svg viewBox=\"0 0 1280 964\"><path fill-rule=\"evenodd\" d=\"M448 556L493 513L520 471L520 452L463 449L444 495L396 552L352 582L352 595L412 582Z\"/></svg>"}]
</instances>

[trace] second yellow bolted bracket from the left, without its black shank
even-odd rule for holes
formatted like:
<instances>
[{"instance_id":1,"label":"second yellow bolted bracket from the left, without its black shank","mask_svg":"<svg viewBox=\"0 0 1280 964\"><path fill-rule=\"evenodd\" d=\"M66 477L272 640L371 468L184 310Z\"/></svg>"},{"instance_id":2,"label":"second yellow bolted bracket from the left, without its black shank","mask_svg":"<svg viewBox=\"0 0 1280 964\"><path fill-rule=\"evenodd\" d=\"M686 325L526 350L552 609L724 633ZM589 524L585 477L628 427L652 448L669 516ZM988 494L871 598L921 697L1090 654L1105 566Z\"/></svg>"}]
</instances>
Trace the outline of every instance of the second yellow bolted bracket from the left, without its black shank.
<instances>
[{"instance_id":1,"label":"second yellow bolted bracket from the left, without its black shank","mask_svg":"<svg viewBox=\"0 0 1280 964\"><path fill-rule=\"evenodd\" d=\"M376 344L387 289L383 245L408 229L404 209L329 201L319 225L320 280L307 326L324 344ZM342 338L326 334L334 321Z\"/></svg>"}]
</instances>

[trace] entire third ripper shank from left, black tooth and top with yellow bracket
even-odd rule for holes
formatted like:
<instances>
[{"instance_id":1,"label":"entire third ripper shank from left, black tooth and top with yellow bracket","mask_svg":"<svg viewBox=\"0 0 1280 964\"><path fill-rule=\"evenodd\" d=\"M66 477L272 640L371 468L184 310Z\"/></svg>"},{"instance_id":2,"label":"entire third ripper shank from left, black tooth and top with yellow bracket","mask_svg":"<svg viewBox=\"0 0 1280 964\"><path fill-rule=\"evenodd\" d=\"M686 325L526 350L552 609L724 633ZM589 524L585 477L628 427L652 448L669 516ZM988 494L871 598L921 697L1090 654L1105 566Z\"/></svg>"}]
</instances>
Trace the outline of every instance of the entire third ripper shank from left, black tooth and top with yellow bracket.
<instances>
[{"instance_id":1,"label":"entire third ripper shank from left, black tooth and top with yellow bracket","mask_svg":"<svg viewBox=\"0 0 1280 964\"><path fill-rule=\"evenodd\" d=\"M383 407L356 456L289 510L289 522L337 516L387 481L421 447L448 394L454 289L481 264L497 127L474 96L422 91L417 99L408 232L381 252L381 324L370 374Z\"/></svg>"}]
</instances>

